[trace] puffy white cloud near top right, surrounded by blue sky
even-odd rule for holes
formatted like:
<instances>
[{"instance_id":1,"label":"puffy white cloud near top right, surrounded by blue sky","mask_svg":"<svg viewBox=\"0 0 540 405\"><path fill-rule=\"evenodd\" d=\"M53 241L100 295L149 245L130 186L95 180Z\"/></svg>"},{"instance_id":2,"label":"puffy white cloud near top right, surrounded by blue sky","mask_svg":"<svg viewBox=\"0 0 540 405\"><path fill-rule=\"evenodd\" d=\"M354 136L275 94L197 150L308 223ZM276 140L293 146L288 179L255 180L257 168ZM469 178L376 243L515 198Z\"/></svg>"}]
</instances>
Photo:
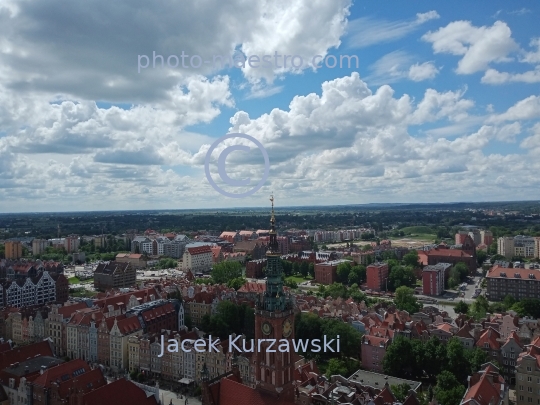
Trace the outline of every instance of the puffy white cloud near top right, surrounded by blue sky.
<instances>
[{"instance_id":1,"label":"puffy white cloud near top right, surrounded by blue sky","mask_svg":"<svg viewBox=\"0 0 540 405\"><path fill-rule=\"evenodd\" d=\"M458 74L486 70L492 62L508 61L508 55L518 49L506 23L496 21L491 27L475 27L470 21L454 21L422 39L430 42L433 51L462 56Z\"/></svg>"}]
</instances>

